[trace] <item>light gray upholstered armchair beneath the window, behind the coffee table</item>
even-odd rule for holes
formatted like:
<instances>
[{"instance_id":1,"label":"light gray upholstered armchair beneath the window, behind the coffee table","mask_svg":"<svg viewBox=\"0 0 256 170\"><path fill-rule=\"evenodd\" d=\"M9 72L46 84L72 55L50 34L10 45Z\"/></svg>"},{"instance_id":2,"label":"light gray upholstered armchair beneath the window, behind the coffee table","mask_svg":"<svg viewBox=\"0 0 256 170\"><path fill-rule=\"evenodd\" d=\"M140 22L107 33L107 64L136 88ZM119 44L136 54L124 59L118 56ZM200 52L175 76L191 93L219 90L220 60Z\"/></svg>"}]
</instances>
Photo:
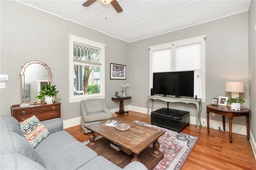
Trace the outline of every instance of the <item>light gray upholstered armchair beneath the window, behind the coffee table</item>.
<instances>
[{"instance_id":1,"label":"light gray upholstered armchair beneath the window, behind the coffee table","mask_svg":"<svg viewBox=\"0 0 256 170\"><path fill-rule=\"evenodd\" d=\"M91 132L84 125L90 125L95 123L95 121L109 119L111 117L112 113L110 113L103 99L87 99L81 101L81 127L83 133Z\"/></svg>"}]
</instances>

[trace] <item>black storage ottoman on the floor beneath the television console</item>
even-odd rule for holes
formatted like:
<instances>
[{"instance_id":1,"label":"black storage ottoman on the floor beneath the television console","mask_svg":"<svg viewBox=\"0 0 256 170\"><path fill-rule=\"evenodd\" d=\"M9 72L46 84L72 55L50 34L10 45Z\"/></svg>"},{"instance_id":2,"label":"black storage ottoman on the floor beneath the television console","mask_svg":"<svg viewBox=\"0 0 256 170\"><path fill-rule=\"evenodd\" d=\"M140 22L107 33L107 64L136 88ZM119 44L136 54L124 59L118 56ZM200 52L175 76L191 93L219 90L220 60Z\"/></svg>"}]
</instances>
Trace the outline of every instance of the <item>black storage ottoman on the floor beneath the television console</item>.
<instances>
[{"instance_id":1,"label":"black storage ottoman on the floor beneath the television console","mask_svg":"<svg viewBox=\"0 0 256 170\"><path fill-rule=\"evenodd\" d=\"M189 125L189 112L161 108L151 112L151 125L170 128L180 133Z\"/></svg>"}]
</instances>

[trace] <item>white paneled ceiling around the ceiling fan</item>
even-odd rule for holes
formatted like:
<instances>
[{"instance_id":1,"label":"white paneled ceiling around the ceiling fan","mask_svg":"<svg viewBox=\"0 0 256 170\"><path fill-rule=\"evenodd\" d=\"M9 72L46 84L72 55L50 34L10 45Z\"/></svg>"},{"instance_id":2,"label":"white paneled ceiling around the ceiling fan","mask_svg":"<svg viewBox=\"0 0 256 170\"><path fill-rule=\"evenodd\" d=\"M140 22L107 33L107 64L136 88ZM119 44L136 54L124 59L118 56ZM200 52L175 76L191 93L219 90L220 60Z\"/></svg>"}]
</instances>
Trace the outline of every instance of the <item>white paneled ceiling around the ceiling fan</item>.
<instances>
[{"instance_id":1,"label":"white paneled ceiling around the ceiling fan","mask_svg":"<svg viewBox=\"0 0 256 170\"><path fill-rule=\"evenodd\" d=\"M109 36L134 42L208 22L249 9L250 0L118 0L117 13L100 0L17 0L56 16L88 26Z\"/></svg>"}]
</instances>

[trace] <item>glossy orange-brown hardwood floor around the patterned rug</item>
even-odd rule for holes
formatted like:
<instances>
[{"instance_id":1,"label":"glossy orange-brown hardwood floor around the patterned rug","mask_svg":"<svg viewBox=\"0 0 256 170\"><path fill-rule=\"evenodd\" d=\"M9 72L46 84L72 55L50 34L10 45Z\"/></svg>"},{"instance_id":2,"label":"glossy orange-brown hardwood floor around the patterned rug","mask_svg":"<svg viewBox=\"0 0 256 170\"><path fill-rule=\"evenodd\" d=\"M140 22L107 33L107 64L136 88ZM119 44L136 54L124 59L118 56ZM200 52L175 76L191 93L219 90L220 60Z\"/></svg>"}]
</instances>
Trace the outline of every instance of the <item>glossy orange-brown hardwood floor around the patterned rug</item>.
<instances>
[{"instance_id":1,"label":"glossy orange-brown hardwood floor around the patterned rug","mask_svg":"<svg viewBox=\"0 0 256 170\"><path fill-rule=\"evenodd\" d=\"M129 115L117 115L128 121L142 121L150 123L150 115L129 111ZM89 134L82 134L80 125L64 129L78 141L88 140ZM246 135L232 134L233 143L229 143L229 133L222 130L210 129L207 134L206 127L197 130L196 125L189 125L182 133L199 137L199 140L190 153L182 170L223 170L223 169L246 169L255 170L256 160L252 152L250 141Z\"/></svg>"}]
</instances>

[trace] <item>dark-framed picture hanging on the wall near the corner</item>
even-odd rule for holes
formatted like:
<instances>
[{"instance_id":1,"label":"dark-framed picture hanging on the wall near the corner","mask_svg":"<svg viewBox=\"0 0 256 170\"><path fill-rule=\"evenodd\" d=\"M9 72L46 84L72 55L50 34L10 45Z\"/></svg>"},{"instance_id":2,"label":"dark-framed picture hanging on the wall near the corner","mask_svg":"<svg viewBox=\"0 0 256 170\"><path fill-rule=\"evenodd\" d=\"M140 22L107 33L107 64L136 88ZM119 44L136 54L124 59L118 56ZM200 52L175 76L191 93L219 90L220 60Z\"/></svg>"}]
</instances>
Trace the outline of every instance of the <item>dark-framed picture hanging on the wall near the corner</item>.
<instances>
[{"instance_id":1,"label":"dark-framed picture hanging on the wall near the corner","mask_svg":"<svg viewBox=\"0 0 256 170\"><path fill-rule=\"evenodd\" d=\"M110 63L110 80L126 80L126 65Z\"/></svg>"}]
</instances>

